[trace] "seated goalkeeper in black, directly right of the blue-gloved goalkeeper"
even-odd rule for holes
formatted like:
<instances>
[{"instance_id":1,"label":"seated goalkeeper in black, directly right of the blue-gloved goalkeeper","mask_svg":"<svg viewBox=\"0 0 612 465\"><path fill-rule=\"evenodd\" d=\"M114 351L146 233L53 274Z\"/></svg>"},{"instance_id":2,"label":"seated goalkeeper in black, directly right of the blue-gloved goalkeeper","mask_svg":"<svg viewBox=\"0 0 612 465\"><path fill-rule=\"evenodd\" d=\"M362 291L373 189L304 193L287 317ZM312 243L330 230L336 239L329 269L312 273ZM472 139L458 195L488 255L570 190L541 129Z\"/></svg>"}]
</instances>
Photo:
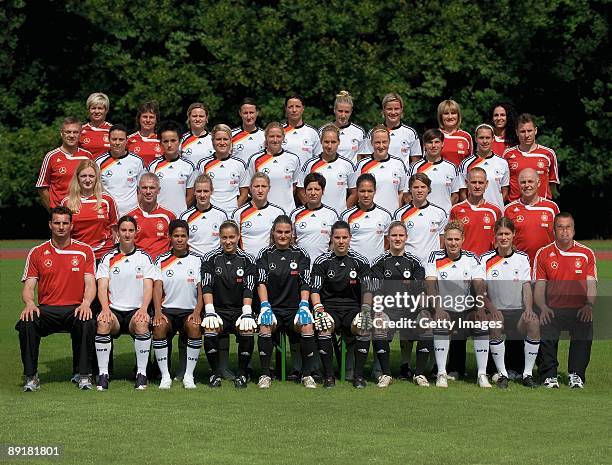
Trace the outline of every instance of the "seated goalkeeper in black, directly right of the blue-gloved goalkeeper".
<instances>
[{"instance_id":1,"label":"seated goalkeeper in black, directly right of the blue-gloved goalkeeper","mask_svg":"<svg viewBox=\"0 0 612 465\"><path fill-rule=\"evenodd\" d=\"M325 371L324 387L335 385L332 359L334 329L347 336L357 330L353 386L366 386L363 367L368 358L369 330L372 328L371 272L367 258L350 249L350 243L350 226L345 221L337 221L331 229L331 251L319 256L312 268L310 298Z\"/></svg>"}]
</instances>

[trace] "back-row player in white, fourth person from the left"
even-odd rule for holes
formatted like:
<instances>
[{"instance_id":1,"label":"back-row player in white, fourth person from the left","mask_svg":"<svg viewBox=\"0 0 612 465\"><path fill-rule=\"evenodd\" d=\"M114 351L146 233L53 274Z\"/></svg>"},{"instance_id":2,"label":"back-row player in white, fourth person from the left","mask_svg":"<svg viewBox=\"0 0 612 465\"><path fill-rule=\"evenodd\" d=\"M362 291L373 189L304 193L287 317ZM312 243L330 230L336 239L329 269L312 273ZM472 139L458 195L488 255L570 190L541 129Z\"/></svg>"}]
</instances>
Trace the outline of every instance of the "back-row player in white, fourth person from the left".
<instances>
[{"instance_id":1,"label":"back-row player in white, fourth person from the left","mask_svg":"<svg viewBox=\"0 0 612 465\"><path fill-rule=\"evenodd\" d=\"M264 149L264 132L257 127L259 108L254 99L247 97L238 110L241 126L232 129L232 156L239 158L246 165L251 156Z\"/></svg>"}]
</instances>

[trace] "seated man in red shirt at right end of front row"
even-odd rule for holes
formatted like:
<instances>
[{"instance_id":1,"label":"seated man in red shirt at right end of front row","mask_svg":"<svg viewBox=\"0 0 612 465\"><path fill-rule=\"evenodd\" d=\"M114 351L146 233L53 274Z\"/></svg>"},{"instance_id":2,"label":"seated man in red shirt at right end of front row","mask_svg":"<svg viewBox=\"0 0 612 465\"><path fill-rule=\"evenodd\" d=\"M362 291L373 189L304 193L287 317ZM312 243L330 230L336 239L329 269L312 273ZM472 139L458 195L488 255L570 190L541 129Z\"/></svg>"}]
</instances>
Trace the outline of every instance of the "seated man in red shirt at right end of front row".
<instances>
[{"instance_id":1,"label":"seated man in red shirt at right end of front row","mask_svg":"<svg viewBox=\"0 0 612 465\"><path fill-rule=\"evenodd\" d=\"M574 219L559 213L555 242L538 250L533 264L534 299L540 308L540 376L547 388L558 388L559 333L568 330L569 387L584 387L593 342L593 305L597 298L597 265L591 249L574 241Z\"/></svg>"}]
</instances>

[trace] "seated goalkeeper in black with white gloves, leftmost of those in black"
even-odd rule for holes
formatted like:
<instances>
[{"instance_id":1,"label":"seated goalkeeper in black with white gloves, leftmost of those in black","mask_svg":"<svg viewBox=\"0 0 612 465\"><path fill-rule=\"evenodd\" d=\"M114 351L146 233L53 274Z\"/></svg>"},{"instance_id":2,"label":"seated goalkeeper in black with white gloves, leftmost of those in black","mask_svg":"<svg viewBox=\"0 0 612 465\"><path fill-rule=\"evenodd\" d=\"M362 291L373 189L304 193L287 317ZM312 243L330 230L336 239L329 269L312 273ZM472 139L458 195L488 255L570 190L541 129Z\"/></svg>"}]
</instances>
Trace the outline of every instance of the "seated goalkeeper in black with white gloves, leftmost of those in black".
<instances>
[{"instance_id":1,"label":"seated goalkeeper in black with white gloves, leftmost of those in black","mask_svg":"<svg viewBox=\"0 0 612 465\"><path fill-rule=\"evenodd\" d=\"M219 333L234 333L238 340L238 375L234 378L234 386L246 388L247 367L253 354L253 335L257 329L251 309L255 259L238 248L240 232L234 221L221 224L219 237L221 247L209 252L202 265L204 351L213 370L209 385L221 386Z\"/></svg>"}]
</instances>

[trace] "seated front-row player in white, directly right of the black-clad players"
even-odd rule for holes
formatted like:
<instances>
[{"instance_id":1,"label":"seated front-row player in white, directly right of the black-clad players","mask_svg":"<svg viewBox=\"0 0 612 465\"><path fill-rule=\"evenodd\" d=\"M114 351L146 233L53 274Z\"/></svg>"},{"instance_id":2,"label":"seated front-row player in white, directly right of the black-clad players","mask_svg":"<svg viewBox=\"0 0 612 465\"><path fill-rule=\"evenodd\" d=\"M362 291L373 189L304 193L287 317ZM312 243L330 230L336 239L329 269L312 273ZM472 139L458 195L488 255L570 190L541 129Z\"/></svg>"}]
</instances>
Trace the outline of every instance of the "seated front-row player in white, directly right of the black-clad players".
<instances>
[{"instance_id":1,"label":"seated front-row player in white, directly right of the black-clad players","mask_svg":"<svg viewBox=\"0 0 612 465\"><path fill-rule=\"evenodd\" d=\"M428 297L436 300L433 305L435 321L432 322L437 324L433 328L434 353L438 365L436 386L448 387L446 361L450 335L456 329L460 335L471 334L474 337L478 385L490 388L486 373L490 317L482 297L484 271L473 253L461 249L462 244L463 224L449 221L444 228L444 249L432 252L425 268ZM475 297L471 295L472 287ZM473 305L468 304L475 304L475 310L471 309Z\"/></svg>"}]
</instances>

